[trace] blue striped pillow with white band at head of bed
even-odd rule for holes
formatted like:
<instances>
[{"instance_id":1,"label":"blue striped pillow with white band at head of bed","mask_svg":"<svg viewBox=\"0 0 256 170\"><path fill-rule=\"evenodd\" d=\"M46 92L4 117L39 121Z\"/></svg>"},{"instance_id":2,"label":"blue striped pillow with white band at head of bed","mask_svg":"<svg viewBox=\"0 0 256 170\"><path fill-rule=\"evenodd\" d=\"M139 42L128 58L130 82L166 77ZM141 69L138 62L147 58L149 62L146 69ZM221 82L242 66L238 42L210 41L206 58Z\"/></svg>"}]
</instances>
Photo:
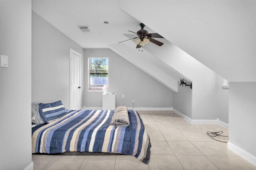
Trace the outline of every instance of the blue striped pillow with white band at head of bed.
<instances>
[{"instance_id":1,"label":"blue striped pillow with white band at head of bed","mask_svg":"<svg viewBox=\"0 0 256 170\"><path fill-rule=\"evenodd\" d=\"M46 104L40 103L38 105L39 113L46 123L49 123L50 120L58 119L68 113L61 100Z\"/></svg>"}]
</instances>

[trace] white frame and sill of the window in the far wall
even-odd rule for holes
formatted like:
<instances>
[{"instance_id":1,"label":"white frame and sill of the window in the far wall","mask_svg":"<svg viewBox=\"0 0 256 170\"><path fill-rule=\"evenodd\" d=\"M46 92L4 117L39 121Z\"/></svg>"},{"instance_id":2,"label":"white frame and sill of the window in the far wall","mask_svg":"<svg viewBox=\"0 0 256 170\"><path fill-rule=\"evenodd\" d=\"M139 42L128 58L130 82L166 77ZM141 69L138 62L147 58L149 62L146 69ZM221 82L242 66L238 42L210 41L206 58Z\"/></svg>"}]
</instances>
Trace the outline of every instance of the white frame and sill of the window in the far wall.
<instances>
[{"instance_id":1,"label":"white frame and sill of the window in the far wall","mask_svg":"<svg viewBox=\"0 0 256 170\"><path fill-rule=\"evenodd\" d=\"M108 60L108 65L107 65L108 69L91 69L90 59L107 59ZM94 84L94 85L91 84L91 76L90 76L91 70L95 70L95 74L96 74L97 70L101 70L101 84ZM107 90L108 90L108 84L102 84L102 78L103 78L102 75L104 74L104 73L102 73L103 70L106 70L107 71L106 74L109 76L109 71L108 71L109 70L109 58L108 57L90 57L90 58L88 58L88 90L87 91L102 92L103 86L106 86ZM108 76L107 76L107 78L108 78ZM92 87L94 87L94 88L92 88Z\"/></svg>"}]
</instances>

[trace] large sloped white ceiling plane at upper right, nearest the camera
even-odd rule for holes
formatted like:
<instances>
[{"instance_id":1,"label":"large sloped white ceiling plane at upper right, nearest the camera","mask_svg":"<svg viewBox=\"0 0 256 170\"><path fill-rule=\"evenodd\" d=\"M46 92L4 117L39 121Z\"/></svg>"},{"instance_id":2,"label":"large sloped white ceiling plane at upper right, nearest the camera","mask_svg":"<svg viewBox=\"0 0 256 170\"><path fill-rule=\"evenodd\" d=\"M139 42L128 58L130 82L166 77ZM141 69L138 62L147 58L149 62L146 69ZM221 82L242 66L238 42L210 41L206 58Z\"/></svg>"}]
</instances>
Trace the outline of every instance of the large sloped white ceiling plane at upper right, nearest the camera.
<instances>
[{"instance_id":1,"label":"large sloped white ceiling plane at upper right, nearest the camera","mask_svg":"<svg viewBox=\"0 0 256 170\"><path fill-rule=\"evenodd\" d=\"M256 1L122 1L119 6L227 80L256 81Z\"/></svg>"}]
</instances>

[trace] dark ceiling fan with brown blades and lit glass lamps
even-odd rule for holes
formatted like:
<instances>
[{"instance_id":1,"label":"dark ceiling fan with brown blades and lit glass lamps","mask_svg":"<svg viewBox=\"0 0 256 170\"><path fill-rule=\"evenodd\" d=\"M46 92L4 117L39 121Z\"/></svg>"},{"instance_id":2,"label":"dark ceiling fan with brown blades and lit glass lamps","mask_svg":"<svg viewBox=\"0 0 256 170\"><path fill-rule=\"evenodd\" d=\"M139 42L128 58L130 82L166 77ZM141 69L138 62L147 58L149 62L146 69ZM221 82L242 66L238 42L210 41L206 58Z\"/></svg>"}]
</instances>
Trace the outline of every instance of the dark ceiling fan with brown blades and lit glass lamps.
<instances>
[{"instance_id":1,"label":"dark ceiling fan with brown blades and lit glass lamps","mask_svg":"<svg viewBox=\"0 0 256 170\"><path fill-rule=\"evenodd\" d=\"M154 43L158 46L162 46L164 43L162 43L156 39L153 39L153 38L164 38L164 37L162 37L158 33L148 33L148 31L146 29L144 29L145 26L146 26L145 24L140 23L141 29L139 31L137 31L137 32L130 31L130 32L138 35L138 37L131 38L131 39L136 39L136 40L134 40L134 42L137 44L136 49L142 47L143 45L145 45L149 42ZM130 39L127 39L125 41L128 41L128 40L130 40ZM122 42L124 42L124 41L121 41L119 43L122 43Z\"/></svg>"}]
</instances>

